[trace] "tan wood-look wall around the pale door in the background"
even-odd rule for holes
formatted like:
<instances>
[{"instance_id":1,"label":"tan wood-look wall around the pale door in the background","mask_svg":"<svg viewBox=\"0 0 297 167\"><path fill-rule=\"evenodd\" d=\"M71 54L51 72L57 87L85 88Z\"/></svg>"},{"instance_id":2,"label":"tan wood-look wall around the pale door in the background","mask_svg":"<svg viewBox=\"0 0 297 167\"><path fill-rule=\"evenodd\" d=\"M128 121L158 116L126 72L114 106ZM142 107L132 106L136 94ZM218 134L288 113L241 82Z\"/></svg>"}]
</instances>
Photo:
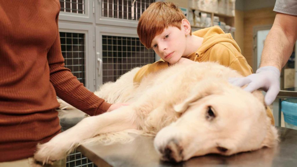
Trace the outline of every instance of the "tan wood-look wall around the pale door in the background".
<instances>
[{"instance_id":1,"label":"tan wood-look wall around the pale door in the background","mask_svg":"<svg viewBox=\"0 0 297 167\"><path fill-rule=\"evenodd\" d=\"M253 67L253 27L272 25L275 17L273 7L276 0L236 0L235 41L242 55Z\"/></svg>"}]
</instances>

